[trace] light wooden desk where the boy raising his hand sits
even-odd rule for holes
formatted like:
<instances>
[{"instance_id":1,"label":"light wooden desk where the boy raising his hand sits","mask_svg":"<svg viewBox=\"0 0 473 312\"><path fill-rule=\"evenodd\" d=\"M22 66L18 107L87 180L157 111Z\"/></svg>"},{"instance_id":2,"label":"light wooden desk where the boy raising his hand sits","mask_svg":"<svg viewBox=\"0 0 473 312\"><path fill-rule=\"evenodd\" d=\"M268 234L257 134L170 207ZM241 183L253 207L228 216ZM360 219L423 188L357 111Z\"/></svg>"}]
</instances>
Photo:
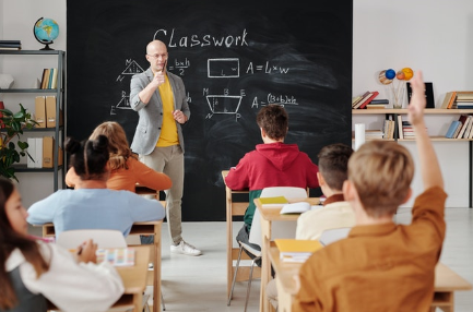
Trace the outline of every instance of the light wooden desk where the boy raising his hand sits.
<instances>
[{"instance_id":1,"label":"light wooden desk where the boy raising his hand sits","mask_svg":"<svg viewBox=\"0 0 473 312\"><path fill-rule=\"evenodd\" d=\"M280 260L280 251L274 245L271 245L269 251L271 264L276 272L277 311L289 312L293 298L297 292L294 276L299 273L303 264L283 263ZM435 292L430 311L434 312L436 308L439 308L445 312L453 312L453 292L469 289L472 289L472 285L468 280L447 265L438 263L435 268Z\"/></svg>"}]
</instances>

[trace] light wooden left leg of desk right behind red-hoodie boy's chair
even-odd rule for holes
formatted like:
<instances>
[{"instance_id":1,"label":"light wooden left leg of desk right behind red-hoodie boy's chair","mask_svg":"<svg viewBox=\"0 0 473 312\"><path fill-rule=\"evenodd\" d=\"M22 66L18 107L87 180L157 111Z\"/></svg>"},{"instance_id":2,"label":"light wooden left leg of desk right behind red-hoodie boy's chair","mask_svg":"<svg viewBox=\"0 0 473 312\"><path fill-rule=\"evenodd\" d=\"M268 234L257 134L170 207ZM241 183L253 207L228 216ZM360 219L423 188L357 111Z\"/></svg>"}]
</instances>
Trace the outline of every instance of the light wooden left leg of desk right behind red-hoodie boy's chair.
<instances>
[{"instance_id":1,"label":"light wooden left leg of desk right behind red-hoodie boy's chair","mask_svg":"<svg viewBox=\"0 0 473 312\"><path fill-rule=\"evenodd\" d=\"M260 291L260 311L269 312L270 302L267 298L267 285L271 277L271 262L269 256L269 244L271 240L271 221L261 218L261 235L262 235L262 247L261 247L261 291Z\"/></svg>"}]
</instances>

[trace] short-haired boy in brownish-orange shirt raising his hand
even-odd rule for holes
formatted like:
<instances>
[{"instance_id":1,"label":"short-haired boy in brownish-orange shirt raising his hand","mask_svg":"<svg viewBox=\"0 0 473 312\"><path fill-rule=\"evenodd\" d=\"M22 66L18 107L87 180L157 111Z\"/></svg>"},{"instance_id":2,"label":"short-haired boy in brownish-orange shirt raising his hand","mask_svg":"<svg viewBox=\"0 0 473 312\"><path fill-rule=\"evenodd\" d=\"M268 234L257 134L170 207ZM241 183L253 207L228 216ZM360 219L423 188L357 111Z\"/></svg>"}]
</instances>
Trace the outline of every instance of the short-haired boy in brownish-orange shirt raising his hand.
<instances>
[{"instance_id":1,"label":"short-haired boy in brownish-orange shirt raising his hand","mask_svg":"<svg viewBox=\"0 0 473 312\"><path fill-rule=\"evenodd\" d=\"M350 158L343 185L356 226L346 239L316 252L301 266L292 311L429 311L446 231L447 194L425 128L422 72L411 84L409 120L424 182L412 224L393 223L398 206L412 194L414 163L409 151L395 142L365 143Z\"/></svg>"}]
</instances>

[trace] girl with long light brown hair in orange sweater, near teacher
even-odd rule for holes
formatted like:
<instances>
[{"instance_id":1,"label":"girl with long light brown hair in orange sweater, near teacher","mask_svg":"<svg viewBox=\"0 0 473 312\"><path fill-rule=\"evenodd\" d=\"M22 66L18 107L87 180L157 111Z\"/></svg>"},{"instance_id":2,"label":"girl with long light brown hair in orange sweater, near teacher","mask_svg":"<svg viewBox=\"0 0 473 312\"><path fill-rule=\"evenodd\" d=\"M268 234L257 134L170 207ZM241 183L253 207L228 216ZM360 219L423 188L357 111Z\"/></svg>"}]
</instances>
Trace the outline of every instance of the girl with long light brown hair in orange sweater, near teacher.
<instances>
[{"instance_id":1,"label":"girl with long light brown hair in orange sweater, near teacher","mask_svg":"<svg viewBox=\"0 0 473 312\"><path fill-rule=\"evenodd\" d=\"M100 123L88 140L96 140L100 134L107 136L110 147L108 161L110 177L107 180L107 189L134 192L137 183L156 191L170 188L173 183L168 176L138 160L138 156L130 149L123 128L118 122ZM74 188L78 179L80 179L79 176L71 167L66 176L66 183Z\"/></svg>"}]
</instances>

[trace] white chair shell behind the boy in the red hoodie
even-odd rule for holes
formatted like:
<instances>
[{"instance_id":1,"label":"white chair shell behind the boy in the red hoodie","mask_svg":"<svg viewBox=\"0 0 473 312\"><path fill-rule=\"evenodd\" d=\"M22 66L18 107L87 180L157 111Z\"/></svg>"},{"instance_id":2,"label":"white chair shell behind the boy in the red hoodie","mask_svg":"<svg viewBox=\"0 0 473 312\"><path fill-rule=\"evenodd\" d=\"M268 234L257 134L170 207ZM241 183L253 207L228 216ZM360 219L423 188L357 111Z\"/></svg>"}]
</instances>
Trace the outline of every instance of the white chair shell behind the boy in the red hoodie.
<instances>
[{"instance_id":1,"label":"white chair shell behind the boy in the red hoodie","mask_svg":"<svg viewBox=\"0 0 473 312\"><path fill-rule=\"evenodd\" d=\"M306 199L307 190L295 187L271 187L261 191L260 197L284 196L286 199ZM273 221L271 225L271 239L295 238L297 221ZM258 245L262 244L261 215L258 208L255 211L251 221L251 230L248 241Z\"/></svg>"}]
</instances>

